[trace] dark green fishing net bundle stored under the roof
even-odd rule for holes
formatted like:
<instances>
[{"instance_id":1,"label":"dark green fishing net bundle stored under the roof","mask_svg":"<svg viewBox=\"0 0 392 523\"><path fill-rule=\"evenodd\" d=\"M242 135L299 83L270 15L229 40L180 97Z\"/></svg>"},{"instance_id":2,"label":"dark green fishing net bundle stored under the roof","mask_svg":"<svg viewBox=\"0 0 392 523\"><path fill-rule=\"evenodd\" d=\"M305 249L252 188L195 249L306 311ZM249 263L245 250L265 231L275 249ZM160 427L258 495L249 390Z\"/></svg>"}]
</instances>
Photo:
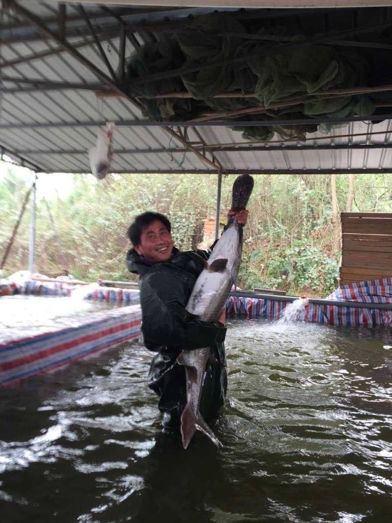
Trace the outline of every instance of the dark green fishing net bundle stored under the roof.
<instances>
[{"instance_id":1,"label":"dark green fishing net bundle stored under the roof","mask_svg":"<svg viewBox=\"0 0 392 523\"><path fill-rule=\"evenodd\" d=\"M256 21L243 24L233 16L213 13L188 21L181 30L163 35L157 42L147 43L136 50L126 62L126 88L132 96L140 96L143 112L153 120L186 121L240 109L258 108L250 115L230 115L244 121L246 139L269 140L274 132L282 138L303 138L306 132L315 132L316 124L303 126L246 126L247 121L289 120L317 117L354 117L372 115L376 111L375 99L362 95L344 95L323 98L332 89L349 90L357 86L387 83L385 78L372 75L378 67L385 71L386 52L378 49L352 49L333 45L302 44L299 35L291 46L280 52L271 51L272 45L286 43L246 39L244 35L274 34L284 37L293 28L276 26L259 28ZM267 50L267 53L266 53ZM266 55L261 55L264 52ZM259 56L254 56L259 53ZM390 54L390 53L389 53ZM197 72L154 82L133 84L133 79L153 73L180 69L195 64L207 64L226 59L244 57L244 60L223 65L212 65ZM377 57L383 66L377 65ZM392 64L390 64L392 65ZM390 70L390 68L389 68ZM385 73L383 73L385 76ZM188 92L192 98L154 98L165 93ZM239 94L236 98L213 98L221 93ZM240 94L253 93L253 97ZM317 95L317 96L316 96ZM293 98L309 98L292 106ZM276 107L278 105L278 107ZM335 127L323 124L326 132Z\"/></svg>"}]
</instances>

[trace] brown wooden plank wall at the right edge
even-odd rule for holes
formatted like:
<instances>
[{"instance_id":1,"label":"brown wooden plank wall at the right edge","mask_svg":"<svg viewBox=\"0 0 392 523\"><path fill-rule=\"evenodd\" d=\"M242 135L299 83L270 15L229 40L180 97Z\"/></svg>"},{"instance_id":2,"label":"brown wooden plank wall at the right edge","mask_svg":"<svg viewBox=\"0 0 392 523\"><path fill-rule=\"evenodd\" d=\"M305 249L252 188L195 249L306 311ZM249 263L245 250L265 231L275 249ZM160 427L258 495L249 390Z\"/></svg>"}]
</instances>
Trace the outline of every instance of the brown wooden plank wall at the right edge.
<instances>
[{"instance_id":1,"label":"brown wooden plank wall at the right edge","mask_svg":"<svg viewBox=\"0 0 392 523\"><path fill-rule=\"evenodd\" d=\"M392 276L392 213L342 212L340 285Z\"/></svg>"}]
</instances>

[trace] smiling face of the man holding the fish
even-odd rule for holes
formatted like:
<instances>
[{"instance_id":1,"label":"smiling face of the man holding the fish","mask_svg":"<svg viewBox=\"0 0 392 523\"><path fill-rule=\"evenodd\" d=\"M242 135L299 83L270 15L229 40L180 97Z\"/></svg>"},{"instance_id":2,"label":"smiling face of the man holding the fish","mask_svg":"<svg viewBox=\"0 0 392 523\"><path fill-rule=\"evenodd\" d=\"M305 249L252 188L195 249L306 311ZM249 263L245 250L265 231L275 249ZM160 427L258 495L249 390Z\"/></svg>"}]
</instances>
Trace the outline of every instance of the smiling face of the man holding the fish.
<instances>
[{"instance_id":1,"label":"smiling face of the man holding the fish","mask_svg":"<svg viewBox=\"0 0 392 523\"><path fill-rule=\"evenodd\" d=\"M155 220L143 229L140 244L135 245L135 250L151 261L169 261L173 250L173 239L165 225Z\"/></svg>"}]
</instances>

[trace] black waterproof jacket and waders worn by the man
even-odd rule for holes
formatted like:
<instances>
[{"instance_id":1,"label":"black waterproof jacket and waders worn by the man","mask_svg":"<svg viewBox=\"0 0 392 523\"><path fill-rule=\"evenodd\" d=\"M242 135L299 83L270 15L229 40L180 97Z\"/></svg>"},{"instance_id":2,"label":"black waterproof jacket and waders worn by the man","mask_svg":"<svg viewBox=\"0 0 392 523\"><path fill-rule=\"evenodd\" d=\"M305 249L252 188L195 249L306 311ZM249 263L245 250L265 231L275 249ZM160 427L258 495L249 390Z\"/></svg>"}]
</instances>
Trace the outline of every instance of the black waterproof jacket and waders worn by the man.
<instances>
[{"instance_id":1,"label":"black waterproof jacket and waders worn by the man","mask_svg":"<svg viewBox=\"0 0 392 523\"><path fill-rule=\"evenodd\" d=\"M148 376L148 386L160 396L159 410L169 412L176 425L186 404L183 367L177 363L182 349L211 347L216 363L207 365L200 410L205 417L223 405L227 372L223 341L226 327L202 322L185 309L195 281L211 251L181 253L173 249L168 263L146 264L135 249L126 255L131 272L140 275L142 333L149 350L157 351Z\"/></svg>"}]
</instances>

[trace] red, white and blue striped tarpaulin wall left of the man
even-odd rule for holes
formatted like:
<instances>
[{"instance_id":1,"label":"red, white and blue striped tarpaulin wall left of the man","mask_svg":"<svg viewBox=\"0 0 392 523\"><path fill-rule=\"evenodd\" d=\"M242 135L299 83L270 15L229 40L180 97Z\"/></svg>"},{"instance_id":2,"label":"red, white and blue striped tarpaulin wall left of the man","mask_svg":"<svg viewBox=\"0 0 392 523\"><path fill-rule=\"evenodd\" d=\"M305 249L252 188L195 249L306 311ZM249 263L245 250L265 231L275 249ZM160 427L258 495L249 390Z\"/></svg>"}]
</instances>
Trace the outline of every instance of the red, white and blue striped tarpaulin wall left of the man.
<instances>
[{"instance_id":1,"label":"red, white and blue striped tarpaulin wall left of the man","mask_svg":"<svg viewBox=\"0 0 392 523\"><path fill-rule=\"evenodd\" d=\"M140 337L141 309L130 305L75 317L73 326L46 332L32 330L24 337L2 333L0 337L0 385L9 385L126 340Z\"/></svg>"}]
</instances>

